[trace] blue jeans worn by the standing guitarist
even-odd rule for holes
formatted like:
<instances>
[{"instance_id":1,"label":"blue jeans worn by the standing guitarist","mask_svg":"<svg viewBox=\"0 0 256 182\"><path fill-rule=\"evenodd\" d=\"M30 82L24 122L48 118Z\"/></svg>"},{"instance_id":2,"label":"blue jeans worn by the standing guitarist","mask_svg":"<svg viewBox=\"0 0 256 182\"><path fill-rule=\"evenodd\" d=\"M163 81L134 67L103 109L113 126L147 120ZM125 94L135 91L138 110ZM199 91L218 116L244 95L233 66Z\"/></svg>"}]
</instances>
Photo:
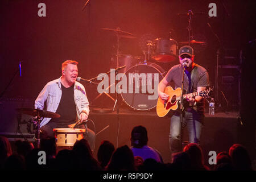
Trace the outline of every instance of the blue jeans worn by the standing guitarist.
<instances>
[{"instance_id":1,"label":"blue jeans worn by the standing guitarist","mask_svg":"<svg viewBox=\"0 0 256 182\"><path fill-rule=\"evenodd\" d=\"M203 126L204 113L197 113L195 110L184 110L182 129L187 126L190 143L199 143L201 128ZM182 151L180 142L180 114L175 113L171 117L169 147L172 153Z\"/></svg>"}]
</instances>

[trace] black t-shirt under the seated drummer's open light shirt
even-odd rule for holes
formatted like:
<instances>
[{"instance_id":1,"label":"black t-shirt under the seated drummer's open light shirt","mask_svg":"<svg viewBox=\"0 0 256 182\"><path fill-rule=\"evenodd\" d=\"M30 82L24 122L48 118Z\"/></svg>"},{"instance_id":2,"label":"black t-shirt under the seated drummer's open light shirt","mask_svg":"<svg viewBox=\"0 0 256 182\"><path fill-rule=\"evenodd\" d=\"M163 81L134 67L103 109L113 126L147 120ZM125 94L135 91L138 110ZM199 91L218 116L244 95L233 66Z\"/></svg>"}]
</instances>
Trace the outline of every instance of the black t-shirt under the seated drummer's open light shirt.
<instances>
[{"instance_id":1,"label":"black t-shirt under the seated drummer's open light shirt","mask_svg":"<svg viewBox=\"0 0 256 182\"><path fill-rule=\"evenodd\" d=\"M57 114L60 114L59 118L51 119L51 122L55 123L75 123L76 121L76 104L74 99L74 85L69 88L65 88L61 84L61 98L60 104L56 110Z\"/></svg>"}]
</instances>

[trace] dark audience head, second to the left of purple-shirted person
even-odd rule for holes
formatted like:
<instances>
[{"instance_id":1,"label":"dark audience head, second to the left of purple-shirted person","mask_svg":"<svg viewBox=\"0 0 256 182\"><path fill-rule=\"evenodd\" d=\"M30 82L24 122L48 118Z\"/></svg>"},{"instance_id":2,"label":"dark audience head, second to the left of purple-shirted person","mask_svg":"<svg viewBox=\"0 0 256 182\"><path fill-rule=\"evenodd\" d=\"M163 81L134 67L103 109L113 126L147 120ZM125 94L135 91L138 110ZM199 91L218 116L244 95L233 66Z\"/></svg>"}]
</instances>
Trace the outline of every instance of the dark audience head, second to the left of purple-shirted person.
<instances>
[{"instance_id":1,"label":"dark audience head, second to the left of purple-shirted person","mask_svg":"<svg viewBox=\"0 0 256 182\"><path fill-rule=\"evenodd\" d=\"M102 168L105 168L108 165L114 150L115 147L113 143L109 142L108 140L103 140L101 142L101 145L98 148L97 158Z\"/></svg>"}]
</instances>

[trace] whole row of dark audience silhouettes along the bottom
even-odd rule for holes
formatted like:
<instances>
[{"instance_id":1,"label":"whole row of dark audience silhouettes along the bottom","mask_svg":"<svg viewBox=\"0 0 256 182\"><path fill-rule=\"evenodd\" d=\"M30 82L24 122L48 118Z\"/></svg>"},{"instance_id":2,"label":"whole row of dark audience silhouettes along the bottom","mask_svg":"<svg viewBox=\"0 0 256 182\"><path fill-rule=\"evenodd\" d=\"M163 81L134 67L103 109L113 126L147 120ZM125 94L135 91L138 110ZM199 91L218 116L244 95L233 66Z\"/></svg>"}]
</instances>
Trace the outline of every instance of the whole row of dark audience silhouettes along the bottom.
<instances>
[{"instance_id":1,"label":"whole row of dark audience silhouettes along the bottom","mask_svg":"<svg viewBox=\"0 0 256 182\"><path fill-rule=\"evenodd\" d=\"M86 139L77 140L73 147L57 152L55 138L42 139L40 148L28 141L16 141L15 148L6 137L0 136L0 169L11 171L82 170L82 171L207 171L199 144L189 143L183 152L172 154L171 163L163 163L159 152L147 146L147 130L135 126L131 131L131 148L115 149L113 143L102 140L94 159ZM13 152L14 151L14 152ZM46 153L46 164L39 164L39 151ZM233 144L229 152L216 158L215 171L251 171L251 159L246 148Z\"/></svg>"}]
</instances>

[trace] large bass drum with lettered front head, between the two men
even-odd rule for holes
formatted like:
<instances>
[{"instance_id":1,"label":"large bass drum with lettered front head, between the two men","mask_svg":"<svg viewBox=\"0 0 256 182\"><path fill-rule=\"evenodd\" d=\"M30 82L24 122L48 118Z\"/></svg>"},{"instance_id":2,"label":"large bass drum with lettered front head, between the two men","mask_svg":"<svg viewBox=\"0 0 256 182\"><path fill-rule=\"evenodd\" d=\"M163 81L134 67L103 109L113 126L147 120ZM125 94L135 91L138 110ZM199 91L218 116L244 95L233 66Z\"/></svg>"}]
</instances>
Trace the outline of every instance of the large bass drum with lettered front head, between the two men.
<instances>
[{"instance_id":1,"label":"large bass drum with lettered front head, between the two men","mask_svg":"<svg viewBox=\"0 0 256 182\"><path fill-rule=\"evenodd\" d=\"M127 88L121 92L123 101L136 110L154 108L158 101L158 84L165 73L163 68L155 63L131 67L125 73Z\"/></svg>"}]
</instances>

